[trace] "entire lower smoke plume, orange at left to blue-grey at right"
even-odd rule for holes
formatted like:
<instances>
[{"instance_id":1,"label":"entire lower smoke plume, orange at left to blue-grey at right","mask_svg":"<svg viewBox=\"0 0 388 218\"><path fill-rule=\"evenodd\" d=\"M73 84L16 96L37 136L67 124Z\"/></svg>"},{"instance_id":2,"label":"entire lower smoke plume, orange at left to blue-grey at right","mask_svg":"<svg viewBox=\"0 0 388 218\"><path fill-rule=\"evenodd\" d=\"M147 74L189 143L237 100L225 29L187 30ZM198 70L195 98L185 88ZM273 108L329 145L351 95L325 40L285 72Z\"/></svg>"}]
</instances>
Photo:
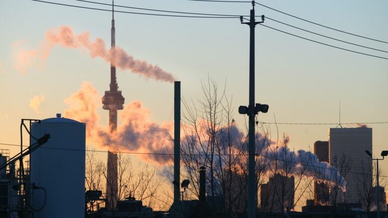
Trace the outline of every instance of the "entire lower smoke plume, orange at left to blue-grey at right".
<instances>
[{"instance_id":1,"label":"entire lower smoke plume, orange at left to blue-grey at right","mask_svg":"<svg viewBox=\"0 0 388 218\"><path fill-rule=\"evenodd\" d=\"M65 117L87 124L88 144L92 143L103 148L113 147L123 151L146 153L142 154L141 158L159 165L166 165L166 160L171 160L171 155L147 154L165 154L171 151L173 125L158 125L152 122L150 119L151 111L143 108L141 101L132 101L124 106L124 109L120 112L122 124L117 127L116 133L113 134L109 133L107 126L104 127L99 124L100 116L97 113L97 108L101 107L101 96L98 95L97 90L91 83L83 82L81 89L65 99L65 103L69 106L65 110ZM200 120L198 123L200 134L205 135L206 122ZM229 130L226 127L219 128L216 135L220 145L231 143L232 145L243 145L243 149L247 148L246 135L238 129L236 124L232 124ZM185 153L184 144L198 143L196 137L195 134L188 134L182 138L183 150L181 152L183 154ZM266 171L269 172L270 167L275 167L274 164L277 164L279 170L283 170L286 165L284 163L287 161L290 175L297 176L298 172L304 170L304 176L328 184L342 184L342 188L345 189L346 183L340 172L327 162L319 162L315 154L305 150L291 151L286 146L276 147L275 142L268 140L260 133L256 134L256 142L257 146L262 147L261 152L258 153L258 160L268 161ZM200 150L196 149L195 152L200 153ZM244 150L244 153L246 151ZM278 161L273 161L275 159Z\"/></svg>"}]
</instances>

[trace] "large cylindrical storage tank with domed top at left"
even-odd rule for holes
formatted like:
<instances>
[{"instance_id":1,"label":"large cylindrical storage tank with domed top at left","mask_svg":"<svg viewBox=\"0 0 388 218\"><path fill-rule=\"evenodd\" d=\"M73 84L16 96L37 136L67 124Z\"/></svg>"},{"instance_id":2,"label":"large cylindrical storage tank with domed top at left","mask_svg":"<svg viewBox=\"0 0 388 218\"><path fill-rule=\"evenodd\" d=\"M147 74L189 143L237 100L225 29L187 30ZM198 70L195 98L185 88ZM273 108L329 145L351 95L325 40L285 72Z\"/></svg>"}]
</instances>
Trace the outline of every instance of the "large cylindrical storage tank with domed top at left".
<instances>
[{"instance_id":1,"label":"large cylindrical storage tank with domed top at left","mask_svg":"<svg viewBox=\"0 0 388 218\"><path fill-rule=\"evenodd\" d=\"M31 153L31 183L45 190L33 190L32 208L43 207L34 218L84 218L86 124L57 114L33 123L31 134L37 139L50 134Z\"/></svg>"}]
</instances>

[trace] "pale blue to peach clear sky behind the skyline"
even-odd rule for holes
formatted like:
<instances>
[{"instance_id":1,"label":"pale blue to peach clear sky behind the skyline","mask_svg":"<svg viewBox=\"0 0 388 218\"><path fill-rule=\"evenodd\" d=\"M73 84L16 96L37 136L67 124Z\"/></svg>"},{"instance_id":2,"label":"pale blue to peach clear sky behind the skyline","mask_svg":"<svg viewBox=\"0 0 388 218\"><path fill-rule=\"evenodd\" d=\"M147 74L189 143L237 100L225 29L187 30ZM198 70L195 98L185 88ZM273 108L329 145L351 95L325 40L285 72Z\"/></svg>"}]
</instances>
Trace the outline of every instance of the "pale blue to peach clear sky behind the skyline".
<instances>
[{"instance_id":1,"label":"pale blue to peach clear sky behind the skyline","mask_svg":"<svg viewBox=\"0 0 388 218\"><path fill-rule=\"evenodd\" d=\"M52 1L110 9L75 0ZM388 38L386 0L258 2L361 36ZM250 3L189 0L116 0L115 4L238 15L248 15L251 9ZM265 14L299 28L388 51L387 43L339 33L262 6L255 9L257 15ZM71 27L76 34L89 32L91 40L101 38L108 46L110 23L111 13L107 11L31 0L0 0L0 143L19 143L21 118L45 119L63 113L68 107L64 99L79 90L83 81L90 82L100 96L109 88L109 64L100 58L91 58L83 50L54 46L46 60L35 58L29 63L24 60L23 68L17 63L20 51L40 48L45 33L61 26ZM388 58L384 52L325 39L268 19L264 24L330 45ZM200 82L208 77L220 85L226 82L226 94L233 96L233 118L239 126L244 125L244 117L237 113L237 108L248 104L249 28L240 24L238 18L115 13L115 26L116 45L135 59L172 73L182 82L182 97L201 98ZM255 40L255 101L270 105L269 112L259 114L258 120L274 122L276 117L278 123L338 123L340 100L342 123L388 121L388 60L330 48L263 26L256 27ZM117 80L126 103L142 101L143 107L151 112L152 122L162 124L171 120L173 83L147 79L129 70L117 70ZM107 111L100 108L98 114L101 125L106 126ZM279 132L290 135L290 145L295 150L308 149L315 141L327 141L328 128L336 126L279 125ZM381 150L388 148L385 138L388 124L368 126L373 128L373 152L379 156ZM1 145L1 148L10 149L11 155L17 151L17 147ZM381 161L381 166L388 171L388 161Z\"/></svg>"}]
</instances>

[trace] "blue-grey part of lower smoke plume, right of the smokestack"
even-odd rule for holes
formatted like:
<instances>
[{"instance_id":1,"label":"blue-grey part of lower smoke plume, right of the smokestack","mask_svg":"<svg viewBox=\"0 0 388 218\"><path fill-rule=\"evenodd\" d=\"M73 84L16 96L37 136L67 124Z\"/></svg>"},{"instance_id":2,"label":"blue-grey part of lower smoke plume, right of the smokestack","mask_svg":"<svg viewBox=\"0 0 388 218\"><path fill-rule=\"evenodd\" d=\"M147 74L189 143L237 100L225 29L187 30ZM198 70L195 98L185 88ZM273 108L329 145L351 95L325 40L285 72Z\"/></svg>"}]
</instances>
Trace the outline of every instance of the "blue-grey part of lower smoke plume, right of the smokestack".
<instances>
[{"instance_id":1,"label":"blue-grey part of lower smoke plume, right of the smokestack","mask_svg":"<svg viewBox=\"0 0 388 218\"><path fill-rule=\"evenodd\" d=\"M199 135L202 135L200 136L202 139L207 139L206 134L208 133L206 131L208 131L208 125L204 120L198 121L198 132ZM289 176L297 177L302 173L303 176L319 180L320 182L330 185L341 185L341 188L345 190L346 182L341 176L340 171L327 162L320 162L314 153L302 149L295 152L287 146L276 146L276 142L271 141L268 137L258 132L256 132L255 137L256 151L259 152L257 153L258 164L263 166L262 169L264 169L265 173L271 173L275 168L278 172L287 172ZM247 153L248 145L246 140L244 133L238 129L236 124L232 124L230 129L222 127L216 131L216 141L220 147L228 147L230 143L235 149L241 149L236 145L242 145L239 147L242 147L244 152ZM289 138L286 137L285 140L287 140L285 142L287 144ZM198 144L198 142L199 139L195 135L188 135L183 139L184 144ZM194 150L201 152L201 149ZM185 150L183 151L185 152Z\"/></svg>"}]
</instances>

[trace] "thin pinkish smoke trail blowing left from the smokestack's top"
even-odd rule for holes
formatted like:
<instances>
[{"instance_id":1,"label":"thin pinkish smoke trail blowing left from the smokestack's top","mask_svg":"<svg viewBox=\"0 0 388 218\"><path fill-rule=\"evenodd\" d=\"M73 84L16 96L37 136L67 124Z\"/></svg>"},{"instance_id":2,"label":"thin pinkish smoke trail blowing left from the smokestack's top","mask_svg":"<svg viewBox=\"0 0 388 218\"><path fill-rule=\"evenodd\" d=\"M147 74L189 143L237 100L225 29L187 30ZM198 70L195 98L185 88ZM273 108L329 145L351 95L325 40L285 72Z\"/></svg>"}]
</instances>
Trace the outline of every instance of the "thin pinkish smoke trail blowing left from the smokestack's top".
<instances>
[{"instance_id":1,"label":"thin pinkish smoke trail blowing left from the smokestack's top","mask_svg":"<svg viewBox=\"0 0 388 218\"><path fill-rule=\"evenodd\" d=\"M119 47L108 50L106 49L105 42L101 38L91 41L88 32L76 34L68 26L61 26L58 29L47 31L45 40L39 50L19 50L15 69L25 72L25 68L28 67L26 64L29 65L29 60L37 56L42 60L46 60L50 55L52 48L56 45L64 48L81 49L89 53L91 58L99 57L108 63L112 60L118 69L129 70L146 79L151 78L165 82L173 82L176 80L173 74L164 71L159 66L134 59ZM112 54L114 54L114 56Z\"/></svg>"}]
</instances>

